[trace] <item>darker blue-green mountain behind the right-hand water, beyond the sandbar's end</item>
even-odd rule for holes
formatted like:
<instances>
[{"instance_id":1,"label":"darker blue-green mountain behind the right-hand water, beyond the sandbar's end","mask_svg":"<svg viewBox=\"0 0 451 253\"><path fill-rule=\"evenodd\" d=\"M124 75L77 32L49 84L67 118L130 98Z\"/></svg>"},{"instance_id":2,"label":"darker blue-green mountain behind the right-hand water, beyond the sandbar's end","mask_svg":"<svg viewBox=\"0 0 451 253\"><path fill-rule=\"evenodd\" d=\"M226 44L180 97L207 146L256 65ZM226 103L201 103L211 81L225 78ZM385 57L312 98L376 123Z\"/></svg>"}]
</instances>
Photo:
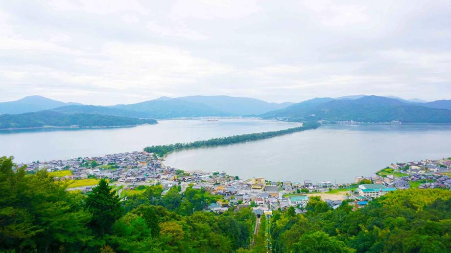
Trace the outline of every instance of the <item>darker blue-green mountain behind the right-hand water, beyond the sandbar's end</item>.
<instances>
[{"instance_id":1,"label":"darker blue-green mountain behind the right-hand water, beyond the sandbar's end","mask_svg":"<svg viewBox=\"0 0 451 253\"><path fill-rule=\"evenodd\" d=\"M451 110L408 104L397 99L365 96L359 99L317 98L260 115L288 120L358 122L451 123Z\"/></svg>"}]
</instances>

